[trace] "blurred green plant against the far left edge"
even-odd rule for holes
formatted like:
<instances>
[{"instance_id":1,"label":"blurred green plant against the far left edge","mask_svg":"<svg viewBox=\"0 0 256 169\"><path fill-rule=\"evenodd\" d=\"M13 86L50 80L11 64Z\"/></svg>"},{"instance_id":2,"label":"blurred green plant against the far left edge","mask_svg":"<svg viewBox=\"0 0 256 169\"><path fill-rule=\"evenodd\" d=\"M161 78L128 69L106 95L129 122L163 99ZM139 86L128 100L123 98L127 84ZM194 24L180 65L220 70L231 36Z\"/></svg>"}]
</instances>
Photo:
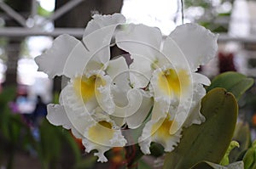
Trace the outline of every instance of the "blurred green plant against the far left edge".
<instances>
[{"instance_id":1,"label":"blurred green plant against the far left edge","mask_svg":"<svg viewBox=\"0 0 256 169\"><path fill-rule=\"evenodd\" d=\"M29 127L24 124L20 115L12 114L9 109L9 102L14 99L15 87L8 87L0 94L0 155L7 155L8 169L13 167L15 151L24 150L27 144L33 142Z\"/></svg>"}]
</instances>

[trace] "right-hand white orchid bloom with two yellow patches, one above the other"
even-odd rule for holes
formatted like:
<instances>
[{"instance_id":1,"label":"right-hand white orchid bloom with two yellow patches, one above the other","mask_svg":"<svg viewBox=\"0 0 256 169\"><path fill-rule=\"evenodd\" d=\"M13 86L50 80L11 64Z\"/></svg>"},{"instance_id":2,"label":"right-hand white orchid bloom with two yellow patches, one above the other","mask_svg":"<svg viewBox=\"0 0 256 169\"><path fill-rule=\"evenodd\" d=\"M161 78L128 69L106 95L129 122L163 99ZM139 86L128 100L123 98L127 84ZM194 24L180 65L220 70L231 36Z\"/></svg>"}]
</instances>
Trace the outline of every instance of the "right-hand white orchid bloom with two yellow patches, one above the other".
<instances>
[{"instance_id":1,"label":"right-hand white orchid bloom with two yellow patches, one above the other","mask_svg":"<svg viewBox=\"0 0 256 169\"><path fill-rule=\"evenodd\" d=\"M116 35L119 48L131 54L131 84L148 87L154 94L151 120L143 129L139 144L149 154L152 141L172 151L179 142L182 127L201 124L201 98L209 85L207 76L195 73L217 52L218 36L200 25L179 25L165 39L159 29L128 25Z\"/></svg>"}]
</instances>

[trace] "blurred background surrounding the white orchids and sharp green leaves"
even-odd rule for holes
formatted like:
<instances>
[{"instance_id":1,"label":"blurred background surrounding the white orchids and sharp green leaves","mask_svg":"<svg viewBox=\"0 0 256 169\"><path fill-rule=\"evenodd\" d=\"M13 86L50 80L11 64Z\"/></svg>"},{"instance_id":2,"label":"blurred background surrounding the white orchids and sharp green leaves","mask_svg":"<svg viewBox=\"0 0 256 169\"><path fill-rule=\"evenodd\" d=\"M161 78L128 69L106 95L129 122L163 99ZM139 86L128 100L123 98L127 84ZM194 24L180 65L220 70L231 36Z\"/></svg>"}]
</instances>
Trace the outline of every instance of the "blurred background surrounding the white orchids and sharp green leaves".
<instances>
[{"instance_id":1,"label":"blurred background surrounding the white orchids and sharp green leaves","mask_svg":"<svg viewBox=\"0 0 256 169\"><path fill-rule=\"evenodd\" d=\"M57 103L61 78L38 72L34 58L62 33L81 38L92 14L124 14L128 22L157 26L166 36L194 22L219 34L218 56L201 72L256 76L254 0L1 0L0 1L0 168L124 168L124 149L108 152L107 164L84 154L80 140L45 121L48 103ZM183 11L183 12L182 12ZM256 138L256 87L240 101L240 121ZM156 159L153 161L152 159ZM157 168L152 156L140 168Z\"/></svg>"}]
</instances>

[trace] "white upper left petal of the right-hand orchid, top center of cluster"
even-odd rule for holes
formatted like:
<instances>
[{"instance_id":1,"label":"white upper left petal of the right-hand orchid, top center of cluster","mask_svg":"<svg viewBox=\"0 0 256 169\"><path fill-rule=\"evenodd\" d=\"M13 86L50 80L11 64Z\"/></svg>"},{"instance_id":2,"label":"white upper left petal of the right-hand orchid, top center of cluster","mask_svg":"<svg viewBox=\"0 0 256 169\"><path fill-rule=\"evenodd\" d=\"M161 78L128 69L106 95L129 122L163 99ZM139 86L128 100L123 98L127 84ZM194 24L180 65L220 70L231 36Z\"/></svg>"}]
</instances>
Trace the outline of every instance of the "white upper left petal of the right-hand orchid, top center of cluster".
<instances>
[{"instance_id":1,"label":"white upper left petal of the right-hand orchid, top center of cluster","mask_svg":"<svg viewBox=\"0 0 256 169\"><path fill-rule=\"evenodd\" d=\"M127 25L115 37L117 46L130 54L154 59L160 51L162 35L159 29L147 25Z\"/></svg>"}]
</instances>

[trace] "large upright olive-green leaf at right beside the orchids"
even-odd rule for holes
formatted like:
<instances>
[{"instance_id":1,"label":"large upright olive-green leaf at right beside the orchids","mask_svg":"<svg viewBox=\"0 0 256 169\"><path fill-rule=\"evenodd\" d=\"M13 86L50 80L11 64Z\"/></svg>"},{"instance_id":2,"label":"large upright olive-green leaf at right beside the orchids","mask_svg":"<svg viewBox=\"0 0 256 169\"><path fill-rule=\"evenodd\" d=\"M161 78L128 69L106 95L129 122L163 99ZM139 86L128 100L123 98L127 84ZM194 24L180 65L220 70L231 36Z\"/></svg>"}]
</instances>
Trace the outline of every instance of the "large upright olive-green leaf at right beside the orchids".
<instances>
[{"instance_id":1,"label":"large upright olive-green leaf at right beside the orchids","mask_svg":"<svg viewBox=\"0 0 256 169\"><path fill-rule=\"evenodd\" d=\"M237 102L223 88L212 89L201 101L206 121L183 130L183 138L166 155L164 169L183 169L199 161L219 163L230 145L236 127Z\"/></svg>"}]
</instances>

